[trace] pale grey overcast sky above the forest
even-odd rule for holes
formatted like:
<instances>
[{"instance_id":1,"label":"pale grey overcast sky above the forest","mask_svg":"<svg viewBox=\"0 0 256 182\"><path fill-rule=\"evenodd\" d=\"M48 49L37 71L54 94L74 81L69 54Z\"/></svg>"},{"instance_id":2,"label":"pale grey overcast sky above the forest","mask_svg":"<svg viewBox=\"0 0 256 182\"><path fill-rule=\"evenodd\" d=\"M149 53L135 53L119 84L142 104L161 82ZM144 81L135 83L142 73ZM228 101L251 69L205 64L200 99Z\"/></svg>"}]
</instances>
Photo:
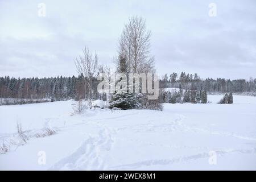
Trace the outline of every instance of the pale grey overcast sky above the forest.
<instances>
[{"instance_id":1,"label":"pale grey overcast sky above the forest","mask_svg":"<svg viewBox=\"0 0 256 182\"><path fill-rule=\"evenodd\" d=\"M38 16L38 3L46 17ZM209 3L217 16L210 17ZM146 19L160 75L256 77L256 1L2 1L0 76L77 75L84 46L112 64L129 16Z\"/></svg>"}]
</instances>

